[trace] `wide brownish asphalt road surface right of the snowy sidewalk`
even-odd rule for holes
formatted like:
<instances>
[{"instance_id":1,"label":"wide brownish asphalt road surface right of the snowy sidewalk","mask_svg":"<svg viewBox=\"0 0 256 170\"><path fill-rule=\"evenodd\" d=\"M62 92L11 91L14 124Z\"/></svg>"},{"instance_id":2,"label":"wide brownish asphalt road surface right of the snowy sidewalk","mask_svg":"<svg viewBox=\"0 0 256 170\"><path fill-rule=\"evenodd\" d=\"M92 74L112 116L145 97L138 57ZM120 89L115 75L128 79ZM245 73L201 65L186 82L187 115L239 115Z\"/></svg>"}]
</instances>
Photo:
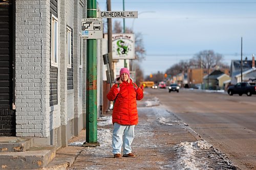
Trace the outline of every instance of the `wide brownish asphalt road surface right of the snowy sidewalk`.
<instances>
[{"instance_id":1,"label":"wide brownish asphalt road surface right of the snowy sidewalk","mask_svg":"<svg viewBox=\"0 0 256 170\"><path fill-rule=\"evenodd\" d=\"M241 169L256 169L256 95L145 89Z\"/></svg>"}]
</instances>

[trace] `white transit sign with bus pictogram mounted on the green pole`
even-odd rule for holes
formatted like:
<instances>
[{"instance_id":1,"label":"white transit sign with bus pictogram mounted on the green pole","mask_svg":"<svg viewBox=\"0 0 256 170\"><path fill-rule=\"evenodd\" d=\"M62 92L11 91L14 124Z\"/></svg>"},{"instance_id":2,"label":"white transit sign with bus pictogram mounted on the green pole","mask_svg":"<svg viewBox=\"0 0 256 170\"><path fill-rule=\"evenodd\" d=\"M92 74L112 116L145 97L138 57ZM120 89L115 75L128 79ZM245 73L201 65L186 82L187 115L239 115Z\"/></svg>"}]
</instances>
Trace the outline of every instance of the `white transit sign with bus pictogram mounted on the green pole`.
<instances>
[{"instance_id":1,"label":"white transit sign with bus pictogram mounted on the green pole","mask_svg":"<svg viewBox=\"0 0 256 170\"><path fill-rule=\"evenodd\" d=\"M102 19L82 18L81 30L83 39L103 38Z\"/></svg>"}]
</instances>

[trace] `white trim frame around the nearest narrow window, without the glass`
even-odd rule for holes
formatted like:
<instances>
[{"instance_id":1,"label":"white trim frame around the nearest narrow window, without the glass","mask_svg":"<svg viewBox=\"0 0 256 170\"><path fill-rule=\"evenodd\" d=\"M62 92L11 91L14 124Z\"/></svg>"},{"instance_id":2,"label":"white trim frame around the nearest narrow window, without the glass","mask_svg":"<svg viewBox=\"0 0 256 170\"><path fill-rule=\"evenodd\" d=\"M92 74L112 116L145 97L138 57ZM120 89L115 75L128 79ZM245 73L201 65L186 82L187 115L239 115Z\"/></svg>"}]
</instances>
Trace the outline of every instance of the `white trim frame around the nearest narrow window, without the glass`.
<instances>
[{"instance_id":1,"label":"white trim frame around the nearest narrow window, without the glass","mask_svg":"<svg viewBox=\"0 0 256 170\"><path fill-rule=\"evenodd\" d=\"M53 23L55 23L55 22L53 22L53 20L56 21L56 23L57 23L56 33L54 32L55 25ZM54 39L55 34L57 34L56 39ZM54 54L55 54L54 43L55 43L55 41L57 41L57 43L56 43L57 62L54 62L54 57L55 57L54 56ZM58 67L58 18L56 16L54 16L53 14L51 16L51 66Z\"/></svg>"}]
</instances>

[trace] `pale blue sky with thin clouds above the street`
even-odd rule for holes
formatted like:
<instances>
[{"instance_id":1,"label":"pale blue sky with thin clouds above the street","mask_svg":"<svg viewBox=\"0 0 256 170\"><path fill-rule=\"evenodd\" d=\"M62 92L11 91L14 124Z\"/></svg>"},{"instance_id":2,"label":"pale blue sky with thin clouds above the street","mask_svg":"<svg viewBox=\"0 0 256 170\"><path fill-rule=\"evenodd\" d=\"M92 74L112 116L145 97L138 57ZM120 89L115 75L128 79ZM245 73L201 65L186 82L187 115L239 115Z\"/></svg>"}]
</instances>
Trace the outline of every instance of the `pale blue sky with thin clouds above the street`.
<instances>
[{"instance_id":1,"label":"pale blue sky with thin clouds above the street","mask_svg":"<svg viewBox=\"0 0 256 170\"><path fill-rule=\"evenodd\" d=\"M97 2L106 11L106 0ZM112 11L122 11L122 2L112 0ZM145 76L203 50L222 54L229 65L241 58L241 37L244 58L256 54L256 0L124 0L124 10L139 14L125 27L143 36Z\"/></svg>"}]
</instances>

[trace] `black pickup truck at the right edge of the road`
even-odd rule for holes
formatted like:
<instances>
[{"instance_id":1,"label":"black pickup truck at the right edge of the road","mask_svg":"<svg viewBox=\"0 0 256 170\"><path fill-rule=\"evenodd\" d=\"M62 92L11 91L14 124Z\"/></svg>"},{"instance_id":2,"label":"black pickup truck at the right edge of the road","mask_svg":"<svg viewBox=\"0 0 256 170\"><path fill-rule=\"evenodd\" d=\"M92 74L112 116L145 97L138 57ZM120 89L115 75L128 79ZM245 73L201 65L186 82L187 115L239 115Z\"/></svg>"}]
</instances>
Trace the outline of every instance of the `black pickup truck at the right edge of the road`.
<instances>
[{"instance_id":1,"label":"black pickup truck at the right edge of the road","mask_svg":"<svg viewBox=\"0 0 256 170\"><path fill-rule=\"evenodd\" d=\"M256 86L250 85L248 82L237 83L236 85L228 86L227 93L229 95L247 94L250 96L251 94L256 94Z\"/></svg>"}]
</instances>

